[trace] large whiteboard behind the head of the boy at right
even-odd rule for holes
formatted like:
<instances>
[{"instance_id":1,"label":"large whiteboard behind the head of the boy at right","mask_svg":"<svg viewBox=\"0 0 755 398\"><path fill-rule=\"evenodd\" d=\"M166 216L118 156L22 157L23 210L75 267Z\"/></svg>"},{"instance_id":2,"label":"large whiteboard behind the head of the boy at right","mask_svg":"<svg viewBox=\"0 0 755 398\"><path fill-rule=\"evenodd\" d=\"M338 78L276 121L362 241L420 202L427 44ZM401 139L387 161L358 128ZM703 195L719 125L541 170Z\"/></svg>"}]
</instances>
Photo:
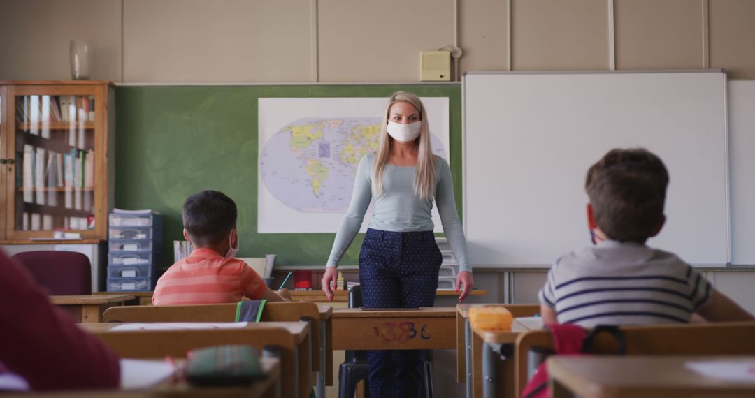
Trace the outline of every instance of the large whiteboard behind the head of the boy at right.
<instances>
[{"instance_id":1,"label":"large whiteboard behind the head of the boy at right","mask_svg":"<svg viewBox=\"0 0 755 398\"><path fill-rule=\"evenodd\" d=\"M666 225L648 245L729 262L724 72L476 72L462 90L473 265L550 265L590 245L587 169L638 146L670 175Z\"/></svg>"}]
</instances>

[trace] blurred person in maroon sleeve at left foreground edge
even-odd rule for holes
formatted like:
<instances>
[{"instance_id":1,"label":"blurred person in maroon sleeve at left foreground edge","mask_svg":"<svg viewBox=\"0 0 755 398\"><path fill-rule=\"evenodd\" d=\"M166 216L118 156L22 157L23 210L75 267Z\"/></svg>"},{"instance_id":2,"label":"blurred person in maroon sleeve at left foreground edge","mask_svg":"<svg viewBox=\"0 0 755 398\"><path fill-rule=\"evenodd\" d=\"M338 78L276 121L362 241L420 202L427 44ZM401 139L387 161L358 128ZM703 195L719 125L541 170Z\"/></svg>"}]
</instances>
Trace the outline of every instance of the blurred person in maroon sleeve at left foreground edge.
<instances>
[{"instance_id":1,"label":"blurred person in maroon sleeve at left foreground edge","mask_svg":"<svg viewBox=\"0 0 755 398\"><path fill-rule=\"evenodd\" d=\"M119 386L119 363L0 250L0 390Z\"/></svg>"}]
</instances>

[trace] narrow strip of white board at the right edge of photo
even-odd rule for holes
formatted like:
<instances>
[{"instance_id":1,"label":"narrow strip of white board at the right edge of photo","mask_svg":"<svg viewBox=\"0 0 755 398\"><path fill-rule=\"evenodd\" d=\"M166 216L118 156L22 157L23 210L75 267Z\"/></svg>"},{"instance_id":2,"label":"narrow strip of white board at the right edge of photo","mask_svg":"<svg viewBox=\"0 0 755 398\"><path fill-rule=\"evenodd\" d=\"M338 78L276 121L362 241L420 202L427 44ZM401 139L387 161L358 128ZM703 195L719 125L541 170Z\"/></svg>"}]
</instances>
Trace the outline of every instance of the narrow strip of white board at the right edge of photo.
<instances>
[{"instance_id":1,"label":"narrow strip of white board at the right edge of photo","mask_svg":"<svg viewBox=\"0 0 755 398\"><path fill-rule=\"evenodd\" d=\"M755 265L755 81L729 81L732 264Z\"/></svg>"}]
</instances>

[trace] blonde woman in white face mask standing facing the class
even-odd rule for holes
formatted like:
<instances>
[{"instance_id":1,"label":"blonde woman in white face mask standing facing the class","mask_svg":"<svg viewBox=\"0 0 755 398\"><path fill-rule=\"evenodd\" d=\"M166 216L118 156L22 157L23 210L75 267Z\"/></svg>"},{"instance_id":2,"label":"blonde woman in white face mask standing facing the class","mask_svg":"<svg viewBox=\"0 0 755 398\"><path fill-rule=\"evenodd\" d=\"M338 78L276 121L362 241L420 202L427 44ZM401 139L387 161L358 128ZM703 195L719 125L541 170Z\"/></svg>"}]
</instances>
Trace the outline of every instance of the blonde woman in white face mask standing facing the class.
<instances>
[{"instance_id":1,"label":"blonde woman in white face mask standing facing the class","mask_svg":"<svg viewBox=\"0 0 755 398\"><path fill-rule=\"evenodd\" d=\"M448 163L433 155L427 112L418 96L399 91L384 114L380 149L359 162L349 210L335 237L322 288L333 299L336 267L362 226L374 213L362 251L359 282L365 307L432 307L442 256L433 234L433 200L443 231L459 263L459 302L473 286L467 243L456 212ZM411 333L412 331L409 331ZM415 335L420 334L414 330ZM369 351L370 396L418 396L421 351Z\"/></svg>"}]
</instances>

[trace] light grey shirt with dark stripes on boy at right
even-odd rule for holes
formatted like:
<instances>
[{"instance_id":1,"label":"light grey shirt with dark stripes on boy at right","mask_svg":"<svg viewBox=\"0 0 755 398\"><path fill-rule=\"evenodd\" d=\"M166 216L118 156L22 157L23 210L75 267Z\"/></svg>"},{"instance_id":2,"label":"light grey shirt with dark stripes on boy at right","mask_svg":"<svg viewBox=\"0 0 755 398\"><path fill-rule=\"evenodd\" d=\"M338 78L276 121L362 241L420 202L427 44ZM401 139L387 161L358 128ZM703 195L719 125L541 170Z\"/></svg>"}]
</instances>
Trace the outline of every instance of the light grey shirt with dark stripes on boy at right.
<instances>
[{"instance_id":1,"label":"light grey shirt with dark stripes on boy at right","mask_svg":"<svg viewBox=\"0 0 755 398\"><path fill-rule=\"evenodd\" d=\"M559 323L593 327L687 323L711 294L702 274L672 253L609 240L558 259L538 298Z\"/></svg>"}]
</instances>

